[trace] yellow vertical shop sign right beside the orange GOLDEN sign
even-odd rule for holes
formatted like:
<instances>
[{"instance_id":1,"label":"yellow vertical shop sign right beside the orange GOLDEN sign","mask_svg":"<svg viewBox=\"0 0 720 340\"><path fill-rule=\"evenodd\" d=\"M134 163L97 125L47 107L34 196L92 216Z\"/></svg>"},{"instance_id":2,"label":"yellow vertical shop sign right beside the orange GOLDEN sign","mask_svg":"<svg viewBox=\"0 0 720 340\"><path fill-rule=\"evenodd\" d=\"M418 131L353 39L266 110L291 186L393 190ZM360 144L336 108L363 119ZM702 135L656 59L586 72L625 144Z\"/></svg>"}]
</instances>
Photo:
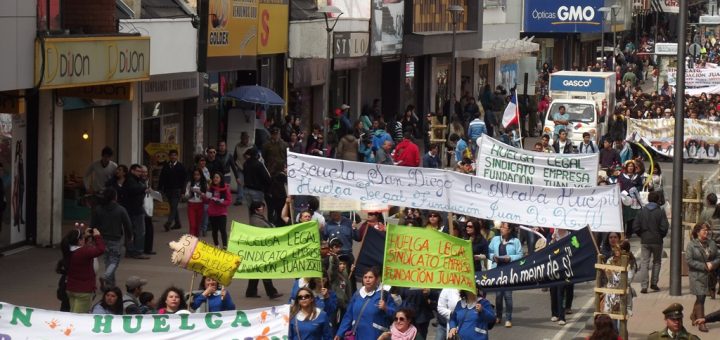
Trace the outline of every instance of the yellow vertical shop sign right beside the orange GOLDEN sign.
<instances>
[{"instance_id":1,"label":"yellow vertical shop sign right beside the orange GOLDEN sign","mask_svg":"<svg viewBox=\"0 0 720 340\"><path fill-rule=\"evenodd\" d=\"M288 50L288 1L260 0L258 5L258 54Z\"/></svg>"}]
</instances>

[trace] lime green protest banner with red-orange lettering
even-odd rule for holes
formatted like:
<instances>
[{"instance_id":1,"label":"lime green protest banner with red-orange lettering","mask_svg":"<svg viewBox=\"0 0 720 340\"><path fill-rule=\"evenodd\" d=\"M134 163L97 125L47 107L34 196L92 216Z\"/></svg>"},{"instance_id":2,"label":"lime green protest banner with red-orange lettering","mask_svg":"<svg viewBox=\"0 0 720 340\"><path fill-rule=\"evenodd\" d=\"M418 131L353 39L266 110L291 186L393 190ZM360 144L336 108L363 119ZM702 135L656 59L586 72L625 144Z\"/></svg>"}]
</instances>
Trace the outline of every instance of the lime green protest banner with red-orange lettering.
<instances>
[{"instance_id":1,"label":"lime green protest banner with red-orange lettering","mask_svg":"<svg viewBox=\"0 0 720 340\"><path fill-rule=\"evenodd\" d=\"M470 241L431 229L388 225L383 284L475 291Z\"/></svg>"}]
</instances>

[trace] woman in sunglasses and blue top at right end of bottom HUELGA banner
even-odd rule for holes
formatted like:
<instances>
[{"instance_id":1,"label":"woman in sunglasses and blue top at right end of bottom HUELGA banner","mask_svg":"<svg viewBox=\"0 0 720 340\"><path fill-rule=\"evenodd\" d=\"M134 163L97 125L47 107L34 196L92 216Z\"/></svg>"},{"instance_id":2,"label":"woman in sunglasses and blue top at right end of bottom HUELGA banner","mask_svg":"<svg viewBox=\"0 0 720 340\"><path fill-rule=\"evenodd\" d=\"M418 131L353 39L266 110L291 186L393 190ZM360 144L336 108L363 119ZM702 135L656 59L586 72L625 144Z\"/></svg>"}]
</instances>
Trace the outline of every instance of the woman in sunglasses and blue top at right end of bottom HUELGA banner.
<instances>
[{"instance_id":1,"label":"woman in sunglasses and blue top at right end of bottom HUELGA banner","mask_svg":"<svg viewBox=\"0 0 720 340\"><path fill-rule=\"evenodd\" d=\"M298 289L290 307L290 340L330 340L332 329L327 313L315 306L315 295L307 288Z\"/></svg>"}]
</instances>

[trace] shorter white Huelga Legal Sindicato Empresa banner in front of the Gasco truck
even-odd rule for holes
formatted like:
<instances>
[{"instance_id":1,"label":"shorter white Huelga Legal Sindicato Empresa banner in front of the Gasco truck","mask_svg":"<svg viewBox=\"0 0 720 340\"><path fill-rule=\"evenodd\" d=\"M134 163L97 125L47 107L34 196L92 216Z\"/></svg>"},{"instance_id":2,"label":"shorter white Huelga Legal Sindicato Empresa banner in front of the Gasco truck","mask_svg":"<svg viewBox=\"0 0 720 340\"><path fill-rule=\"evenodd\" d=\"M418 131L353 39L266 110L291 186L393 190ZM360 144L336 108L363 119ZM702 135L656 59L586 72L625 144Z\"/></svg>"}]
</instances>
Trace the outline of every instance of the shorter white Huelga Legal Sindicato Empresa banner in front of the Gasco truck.
<instances>
[{"instance_id":1,"label":"shorter white Huelga Legal Sindicato Empresa banner in front of the Gasco truck","mask_svg":"<svg viewBox=\"0 0 720 340\"><path fill-rule=\"evenodd\" d=\"M527 151L485 134L478 144L477 176L548 187L597 186L599 153L561 155Z\"/></svg>"}]
</instances>

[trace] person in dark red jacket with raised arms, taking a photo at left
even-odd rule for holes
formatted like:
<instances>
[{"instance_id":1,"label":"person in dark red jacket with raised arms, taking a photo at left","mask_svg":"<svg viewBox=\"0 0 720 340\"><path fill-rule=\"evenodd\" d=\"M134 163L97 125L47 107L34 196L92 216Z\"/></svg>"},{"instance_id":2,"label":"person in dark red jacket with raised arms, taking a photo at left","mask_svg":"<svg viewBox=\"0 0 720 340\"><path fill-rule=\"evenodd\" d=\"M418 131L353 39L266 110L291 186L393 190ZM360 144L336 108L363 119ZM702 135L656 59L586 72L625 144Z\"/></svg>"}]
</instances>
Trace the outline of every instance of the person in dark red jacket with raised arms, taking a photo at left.
<instances>
[{"instance_id":1,"label":"person in dark red jacket with raised arms, taking a photo at left","mask_svg":"<svg viewBox=\"0 0 720 340\"><path fill-rule=\"evenodd\" d=\"M93 260L105 253L105 242L97 228L75 229L65 235L60 248L67 268L70 312L88 313L95 292Z\"/></svg>"}]
</instances>

